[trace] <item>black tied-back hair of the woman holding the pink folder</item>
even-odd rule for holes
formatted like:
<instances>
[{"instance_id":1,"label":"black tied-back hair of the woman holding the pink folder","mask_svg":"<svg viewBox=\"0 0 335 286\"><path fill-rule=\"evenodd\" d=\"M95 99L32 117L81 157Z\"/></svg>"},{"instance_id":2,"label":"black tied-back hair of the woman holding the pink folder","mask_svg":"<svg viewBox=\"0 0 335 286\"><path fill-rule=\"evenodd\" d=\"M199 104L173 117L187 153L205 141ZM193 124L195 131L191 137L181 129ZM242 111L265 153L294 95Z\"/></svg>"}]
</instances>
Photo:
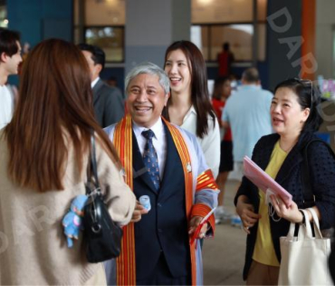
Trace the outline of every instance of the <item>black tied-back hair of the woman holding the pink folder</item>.
<instances>
[{"instance_id":1,"label":"black tied-back hair of the woman holding the pink folder","mask_svg":"<svg viewBox=\"0 0 335 286\"><path fill-rule=\"evenodd\" d=\"M302 110L310 108L310 115L303 124L303 132L316 132L323 122L320 114L321 93L310 80L300 78L290 78L283 81L274 88L274 94L279 88L286 87L292 90L298 96L298 103Z\"/></svg>"}]
</instances>

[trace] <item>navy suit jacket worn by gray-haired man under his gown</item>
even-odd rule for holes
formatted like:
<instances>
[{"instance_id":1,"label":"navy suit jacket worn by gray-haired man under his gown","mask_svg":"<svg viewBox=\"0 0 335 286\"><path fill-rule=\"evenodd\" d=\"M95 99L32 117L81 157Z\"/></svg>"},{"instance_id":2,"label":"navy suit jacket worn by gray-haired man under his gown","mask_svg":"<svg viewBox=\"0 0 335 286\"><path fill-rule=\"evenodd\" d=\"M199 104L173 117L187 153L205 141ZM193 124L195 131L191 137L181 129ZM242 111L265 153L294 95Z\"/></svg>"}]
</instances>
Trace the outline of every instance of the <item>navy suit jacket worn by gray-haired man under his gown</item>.
<instances>
[{"instance_id":1,"label":"navy suit jacket worn by gray-haired man under his gown","mask_svg":"<svg viewBox=\"0 0 335 286\"><path fill-rule=\"evenodd\" d=\"M146 171L133 133L134 192L138 200L141 195L148 195L151 202L151 210L135 223L137 280L152 274L161 254L174 277L190 274L184 172L166 125L165 130L167 161L158 191Z\"/></svg>"}]
</instances>

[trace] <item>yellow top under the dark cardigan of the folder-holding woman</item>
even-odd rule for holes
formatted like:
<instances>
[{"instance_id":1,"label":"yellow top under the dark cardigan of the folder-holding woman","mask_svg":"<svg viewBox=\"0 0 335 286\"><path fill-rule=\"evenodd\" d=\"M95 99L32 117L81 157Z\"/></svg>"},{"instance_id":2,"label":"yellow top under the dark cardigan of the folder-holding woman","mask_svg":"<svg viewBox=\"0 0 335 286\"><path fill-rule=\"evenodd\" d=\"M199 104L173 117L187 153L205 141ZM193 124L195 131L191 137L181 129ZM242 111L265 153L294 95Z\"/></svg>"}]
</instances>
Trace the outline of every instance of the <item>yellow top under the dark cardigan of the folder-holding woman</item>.
<instances>
[{"instance_id":1,"label":"yellow top under the dark cardigan of the folder-holding woman","mask_svg":"<svg viewBox=\"0 0 335 286\"><path fill-rule=\"evenodd\" d=\"M265 173L269 174L273 179L276 177L282 163L285 160L287 153L285 153L279 141L275 143L273 153L271 154L270 163L265 169ZM258 190L260 194L259 213L262 218L258 222L256 244L254 246L254 261L263 263L265 265L279 266L279 261L275 255L273 248L273 240L270 230L270 217L268 212L268 205L265 204L265 194L262 190Z\"/></svg>"}]
</instances>

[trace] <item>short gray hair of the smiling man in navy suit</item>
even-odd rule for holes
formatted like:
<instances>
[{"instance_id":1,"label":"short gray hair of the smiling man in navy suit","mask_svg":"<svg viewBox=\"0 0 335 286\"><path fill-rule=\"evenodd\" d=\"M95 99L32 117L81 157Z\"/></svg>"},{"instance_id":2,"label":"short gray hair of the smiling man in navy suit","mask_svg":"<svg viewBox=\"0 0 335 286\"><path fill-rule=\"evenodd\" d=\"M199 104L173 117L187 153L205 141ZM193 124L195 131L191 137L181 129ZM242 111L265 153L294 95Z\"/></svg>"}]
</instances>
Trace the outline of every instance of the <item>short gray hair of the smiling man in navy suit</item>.
<instances>
[{"instance_id":1,"label":"short gray hair of the smiling man in navy suit","mask_svg":"<svg viewBox=\"0 0 335 286\"><path fill-rule=\"evenodd\" d=\"M145 62L136 65L126 76L125 92L128 94L128 86L131 80L139 74L151 74L158 76L158 83L163 87L165 94L170 92L170 81L168 75L157 65L150 62Z\"/></svg>"}]
</instances>

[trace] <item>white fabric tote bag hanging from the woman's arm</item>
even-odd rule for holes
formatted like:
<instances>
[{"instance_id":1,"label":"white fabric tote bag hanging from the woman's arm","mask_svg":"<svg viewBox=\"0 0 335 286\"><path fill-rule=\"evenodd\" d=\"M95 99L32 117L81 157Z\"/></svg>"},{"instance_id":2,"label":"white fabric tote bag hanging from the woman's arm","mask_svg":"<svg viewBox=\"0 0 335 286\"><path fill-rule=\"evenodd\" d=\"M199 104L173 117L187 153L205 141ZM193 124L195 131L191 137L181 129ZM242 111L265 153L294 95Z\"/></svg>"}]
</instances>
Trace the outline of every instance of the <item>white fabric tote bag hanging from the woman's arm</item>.
<instances>
[{"instance_id":1,"label":"white fabric tote bag hanging from the woman's arm","mask_svg":"<svg viewBox=\"0 0 335 286\"><path fill-rule=\"evenodd\" d=\"M295 223L291 223L287 236L280 238L282 261L278 285L333 285L328 268L330 239L322 238L316 212L311 211L315 237L312 237L308 214L306 226L301 225L298 237L294 237Z\"/></svg>"}]
</instances>

